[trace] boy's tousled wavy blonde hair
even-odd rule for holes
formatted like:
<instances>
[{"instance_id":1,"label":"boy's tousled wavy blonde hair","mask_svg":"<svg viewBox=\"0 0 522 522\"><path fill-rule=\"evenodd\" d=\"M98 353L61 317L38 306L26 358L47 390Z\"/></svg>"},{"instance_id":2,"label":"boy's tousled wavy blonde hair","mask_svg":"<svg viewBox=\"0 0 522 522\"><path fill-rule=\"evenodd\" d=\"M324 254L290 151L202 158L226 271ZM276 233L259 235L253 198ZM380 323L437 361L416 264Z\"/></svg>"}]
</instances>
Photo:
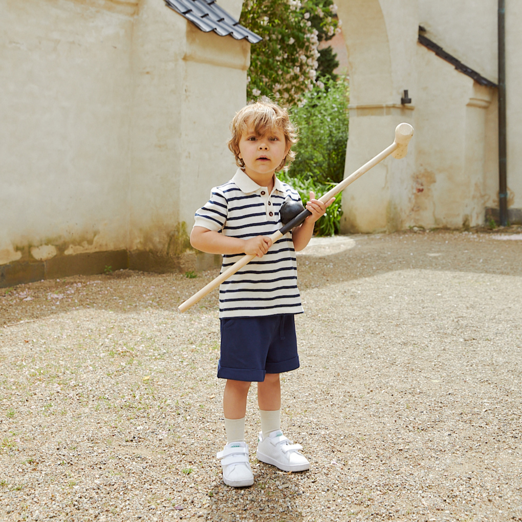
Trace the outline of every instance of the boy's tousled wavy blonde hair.
<instances>
[{"instance_id":1,"label":"boy's tousled wavy blonde hair","mask_svg":"<svg viewBox=\"0 0 522 522\"><path fill-rule=\"evenodd\" d=\"M239 157L239 142L243 133L246 133L248 127L251 125L254 127L254 132L257 136L264 136L267 132L274 131L275 129L279 129L283 132L284 141L287 147L289 147L289 150L277 170L279 171L283 167L290 165L295 159L295 151L293 151L291 147L298 142L297 129L290 121L288 111L266 96L245 105L243 109L236 112L230 124L232 137L228 141L228 147L235 156L236 165L238 165L238 167L245 166L245 163Z\"/></svg>"}]
</instances>

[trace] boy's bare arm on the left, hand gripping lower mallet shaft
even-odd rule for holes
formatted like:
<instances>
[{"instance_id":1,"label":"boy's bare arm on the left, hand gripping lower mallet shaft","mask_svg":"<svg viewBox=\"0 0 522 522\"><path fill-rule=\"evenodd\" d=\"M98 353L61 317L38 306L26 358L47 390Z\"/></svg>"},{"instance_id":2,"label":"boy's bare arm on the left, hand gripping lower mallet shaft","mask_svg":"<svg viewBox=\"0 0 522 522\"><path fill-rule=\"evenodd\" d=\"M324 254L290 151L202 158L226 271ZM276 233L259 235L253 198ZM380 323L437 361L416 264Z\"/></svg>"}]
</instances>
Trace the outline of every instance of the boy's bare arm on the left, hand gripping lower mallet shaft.
<instances>
[{"instance_id":1,"label":"boy's bare arm on the left, hand gripping lower mallet shaft","mask_svg":"<svg viewBox=\"0 0 522 522\"><path fill-rule=\"evenodd\" d=\"M272 241L264 235L245 240L231 238L204 227L194 227L191 232L191 245L209 254L255 254L257 257L263 257L272 246Z\"/></svg>"}]
</instances>

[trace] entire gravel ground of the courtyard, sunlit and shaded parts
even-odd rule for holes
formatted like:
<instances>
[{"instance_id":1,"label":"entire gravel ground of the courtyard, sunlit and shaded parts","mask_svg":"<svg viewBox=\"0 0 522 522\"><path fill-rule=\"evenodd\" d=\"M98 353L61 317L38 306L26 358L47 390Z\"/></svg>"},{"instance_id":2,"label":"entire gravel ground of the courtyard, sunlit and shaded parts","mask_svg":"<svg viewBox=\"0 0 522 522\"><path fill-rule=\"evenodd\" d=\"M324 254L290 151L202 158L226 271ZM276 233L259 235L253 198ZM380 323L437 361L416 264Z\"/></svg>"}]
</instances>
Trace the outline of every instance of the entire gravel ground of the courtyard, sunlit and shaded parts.
<instances>
[{"instance_id":1,"label":"entire gravel ground of the courtyard, sunlit and shaded parts","mask_svg":"<svg viewBox=\"0 0 522 522\"><path fill-rule=\"evenodd\" d=\"M502 232L314 241L282 377L311 469L257 462L254 384L239 490L215 458L217 294L176 309L217 270L0 289L0 520L522 520L522 231Z\"/></svg>"}]
</instances>

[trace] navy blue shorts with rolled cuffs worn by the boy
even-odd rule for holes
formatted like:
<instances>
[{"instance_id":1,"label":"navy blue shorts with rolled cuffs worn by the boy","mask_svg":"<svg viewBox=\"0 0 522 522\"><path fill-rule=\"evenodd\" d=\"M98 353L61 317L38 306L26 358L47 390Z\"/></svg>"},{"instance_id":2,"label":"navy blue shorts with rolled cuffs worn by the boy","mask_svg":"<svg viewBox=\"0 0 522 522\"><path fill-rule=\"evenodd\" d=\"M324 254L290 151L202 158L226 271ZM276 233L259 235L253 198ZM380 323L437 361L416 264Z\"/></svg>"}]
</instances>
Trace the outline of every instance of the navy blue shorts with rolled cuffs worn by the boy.
<instances>
[{"instance_id":1,"label":"navy blue shorts with rolled cuffs worn by the boy","mask_svg":"<svg viewBox=\"0 0 522 522\"><path fill-rule=\"evenodd\" d=\"M299 368L292 314L221 319L218 377L234 381L265 380L265 373Z\"/></svg>"}]
</instances>

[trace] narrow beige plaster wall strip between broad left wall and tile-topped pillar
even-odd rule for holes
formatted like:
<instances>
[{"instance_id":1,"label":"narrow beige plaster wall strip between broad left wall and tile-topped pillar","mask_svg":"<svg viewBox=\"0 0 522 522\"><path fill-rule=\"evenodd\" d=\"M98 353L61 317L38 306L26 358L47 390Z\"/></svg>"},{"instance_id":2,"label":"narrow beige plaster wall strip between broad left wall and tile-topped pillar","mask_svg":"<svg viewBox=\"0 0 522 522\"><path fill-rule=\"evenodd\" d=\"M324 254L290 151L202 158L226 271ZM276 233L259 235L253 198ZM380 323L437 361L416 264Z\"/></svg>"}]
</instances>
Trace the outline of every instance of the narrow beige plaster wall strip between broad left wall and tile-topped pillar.
<instances>
[{"instance_id":1,"label":"narrow beige plaster wall strip between broad left wall and tile-topped pillar","mask_svg":"<svg viewBox=\"0 0 522 522\"><path fill-rule=\"evenodd\" d=\"M141 2L134 20L131 155L128 165L130 251L161 252L180 214L186 20L161 2Z\"/></svg>"}]
</instances>

